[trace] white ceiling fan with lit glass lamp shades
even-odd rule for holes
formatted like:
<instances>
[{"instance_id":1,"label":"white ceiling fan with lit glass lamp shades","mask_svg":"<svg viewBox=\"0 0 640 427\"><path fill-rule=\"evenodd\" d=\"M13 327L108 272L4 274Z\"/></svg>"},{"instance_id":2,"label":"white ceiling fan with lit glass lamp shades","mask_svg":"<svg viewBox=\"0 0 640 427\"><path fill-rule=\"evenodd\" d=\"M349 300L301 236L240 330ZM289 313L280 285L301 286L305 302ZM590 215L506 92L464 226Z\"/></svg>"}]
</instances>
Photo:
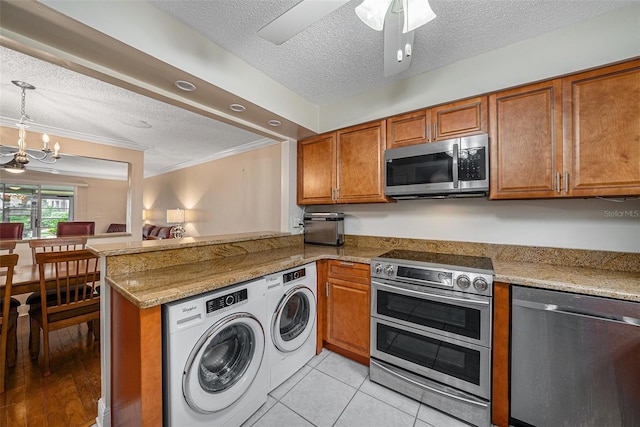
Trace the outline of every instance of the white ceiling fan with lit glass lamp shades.
<instances>
[{"instance_id":1,"label":"white ceiling fan with lit glass lamp shades","mask_svg":"<svg viewBox=\"0 0 640 427\"><path fill-rule=\"evenodd\" d=\"M258 31L280 45L349 0L302 0ZM364 0L355 13L369 27L384 31L384 75L411 66L414 30L436 17L429 0Z\"/></svg>"}]
</instances>

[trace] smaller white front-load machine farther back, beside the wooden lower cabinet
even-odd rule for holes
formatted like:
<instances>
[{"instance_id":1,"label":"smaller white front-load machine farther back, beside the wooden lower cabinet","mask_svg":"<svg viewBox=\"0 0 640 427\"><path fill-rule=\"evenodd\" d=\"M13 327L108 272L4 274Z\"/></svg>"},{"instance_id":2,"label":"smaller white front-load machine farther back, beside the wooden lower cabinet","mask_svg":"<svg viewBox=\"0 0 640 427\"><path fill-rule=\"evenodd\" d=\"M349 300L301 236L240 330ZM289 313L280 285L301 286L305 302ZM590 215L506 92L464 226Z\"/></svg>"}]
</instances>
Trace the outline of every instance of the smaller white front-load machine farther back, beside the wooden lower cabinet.
<instances>
[{"instance_id":1,"label":"smaller white front-load machine farther back, beside the wooden lower cabinet","mask_svg":"<svg viewBox=\"0 0 640 427\"><path fill-rule=\"evenodd\" d=\"M316 354L316 264L266 276L269 391Z\"/></svg>"}]
</instances>

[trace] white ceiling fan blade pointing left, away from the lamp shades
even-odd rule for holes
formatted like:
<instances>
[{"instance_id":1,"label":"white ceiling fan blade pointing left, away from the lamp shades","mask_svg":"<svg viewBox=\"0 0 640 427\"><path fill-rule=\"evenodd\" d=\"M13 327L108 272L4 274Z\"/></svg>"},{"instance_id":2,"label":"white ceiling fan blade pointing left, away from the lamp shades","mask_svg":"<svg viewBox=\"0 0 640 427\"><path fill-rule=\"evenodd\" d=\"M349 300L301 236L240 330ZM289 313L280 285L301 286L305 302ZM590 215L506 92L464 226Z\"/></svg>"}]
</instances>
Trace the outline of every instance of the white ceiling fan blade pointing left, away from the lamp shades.
<instances>
[{"instance_id":1,"label":"white ceiling fan blade pointing left, away from the lamp shades","mask_svg":"<svg viewBox=\"0 0 640 427\"><path fill-rule=\"evenodd\" d=\"M258 31L258 35L274 44L281 45L348 2L349 0L302 0L262 27Z\"/></svg>"}]
</instances>

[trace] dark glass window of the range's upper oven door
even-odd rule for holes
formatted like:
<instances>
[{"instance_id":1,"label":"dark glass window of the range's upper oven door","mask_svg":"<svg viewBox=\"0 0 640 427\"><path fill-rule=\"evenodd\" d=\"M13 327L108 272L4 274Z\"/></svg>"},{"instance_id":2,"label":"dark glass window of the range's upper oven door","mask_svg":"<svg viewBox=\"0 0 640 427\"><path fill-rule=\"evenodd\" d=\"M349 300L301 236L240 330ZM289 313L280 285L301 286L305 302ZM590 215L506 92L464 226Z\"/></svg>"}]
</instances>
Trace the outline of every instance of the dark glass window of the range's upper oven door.
<instances>
[{"instance_id":1,"label":"dark glass window of the range's upper oven door","mask_svg":"<svg viewBox=\"0 0 640 427\"><path fill-rule=\"evenodd\" d=\"M377 312L406 322L480 339L480 310L377 291Z\"/></svg>"}]
</instances>

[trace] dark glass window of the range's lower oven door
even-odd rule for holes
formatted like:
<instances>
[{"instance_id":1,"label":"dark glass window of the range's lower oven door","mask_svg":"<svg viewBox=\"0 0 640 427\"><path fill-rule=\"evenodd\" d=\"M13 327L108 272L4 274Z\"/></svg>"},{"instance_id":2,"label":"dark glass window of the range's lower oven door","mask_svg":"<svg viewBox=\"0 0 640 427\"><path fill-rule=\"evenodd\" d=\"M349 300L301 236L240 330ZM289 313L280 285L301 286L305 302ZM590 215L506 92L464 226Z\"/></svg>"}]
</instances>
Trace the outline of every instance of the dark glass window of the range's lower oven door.
<instances>
[{"instance_id":1,"label":"dark glass window of the range's lower oven door","mask_svg":"<svg viewBox=\"0 0 640 427\"><path fill-rule=\"evenodd\" d=\"M425 368L480 385L480 352L381 323L376 348Z\"/></svg>"}]
</instances>

